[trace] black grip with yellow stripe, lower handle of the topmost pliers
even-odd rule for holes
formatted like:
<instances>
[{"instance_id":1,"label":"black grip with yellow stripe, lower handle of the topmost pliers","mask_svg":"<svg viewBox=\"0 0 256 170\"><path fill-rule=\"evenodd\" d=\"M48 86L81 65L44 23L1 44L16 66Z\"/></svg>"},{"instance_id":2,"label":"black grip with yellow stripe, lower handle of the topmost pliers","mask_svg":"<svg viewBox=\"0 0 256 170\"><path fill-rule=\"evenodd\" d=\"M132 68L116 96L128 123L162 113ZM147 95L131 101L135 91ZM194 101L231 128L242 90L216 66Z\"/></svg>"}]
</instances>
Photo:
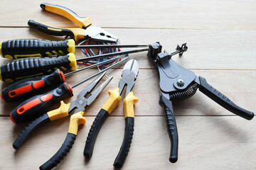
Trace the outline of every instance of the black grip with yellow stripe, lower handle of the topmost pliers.
<instances>
[{"instance_id":1,"label":"black grip with yellow stripe, lower handle of the topmost pliers","mask_svg":"<svg viewBox=\"0 0 256 170\"><path fill-rule=\"evenodd\" d=\"M49 35L56 35L56 36L68 35L68 36L70 36L70 38L75 39L75 35L72 32L72 30L69 30L67 28L55 28L52 26L46 26L43 23L38 23L33 20L28 21L28 26L36 28L37 30L40 30L41 32L47 33Z\"/></svg>"}]
</instances>

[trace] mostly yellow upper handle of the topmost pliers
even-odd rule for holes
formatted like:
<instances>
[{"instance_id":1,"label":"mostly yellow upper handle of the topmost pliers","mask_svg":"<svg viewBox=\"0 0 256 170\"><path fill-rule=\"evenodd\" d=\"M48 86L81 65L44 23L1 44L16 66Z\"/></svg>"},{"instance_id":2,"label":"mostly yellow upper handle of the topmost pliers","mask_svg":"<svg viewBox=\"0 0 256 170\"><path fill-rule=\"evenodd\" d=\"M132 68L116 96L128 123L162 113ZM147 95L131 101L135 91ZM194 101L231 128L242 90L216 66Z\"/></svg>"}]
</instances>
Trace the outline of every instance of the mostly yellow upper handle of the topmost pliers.
<instances>
[{"instance_id":1,"label":"mostly yellow upper handle of the topmost pliers","mask_svg":"<svg viewBox=\"0 0 256 170\"><path fill-rule=\"evenodd\" d=\"M50 11L52 13L56 13L60 16L64 16L65 18L70 19L74 23L76 23L80 28L87 28L87 26L90 26L92 23L90 22L89 17L85 18L78 18L72 14L73 11L67 11L65 8L62 8L62 6L54 6L50 4L46 4L46 11Z\"/></svg>"}]
</instances>

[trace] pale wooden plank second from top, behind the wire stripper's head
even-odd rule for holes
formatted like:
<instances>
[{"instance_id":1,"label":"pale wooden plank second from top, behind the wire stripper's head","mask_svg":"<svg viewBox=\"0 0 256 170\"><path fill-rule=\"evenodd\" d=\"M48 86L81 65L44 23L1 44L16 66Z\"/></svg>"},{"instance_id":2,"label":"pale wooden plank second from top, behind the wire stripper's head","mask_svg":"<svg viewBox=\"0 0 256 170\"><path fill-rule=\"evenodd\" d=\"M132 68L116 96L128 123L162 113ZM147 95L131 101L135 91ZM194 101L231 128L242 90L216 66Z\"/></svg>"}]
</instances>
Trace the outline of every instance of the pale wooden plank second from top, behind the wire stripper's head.
<instances>
[{"instance_id":1,"label":"pale wooden plank second from top, behind the wire stripper's head","mask_svg":"<svg viewBox=\"0 0 256 170\"><path fill-rule=\"evenodd\" d=\"M117 35L124 44L161 42L163 50L174 52L176 45L188 44L183 57L173 60L189 69L255 69L256 31L227 30L162 30L162 29L107 29ZM17 38L41 38L63 40L40 33L33 28L0 28L0 42ZM76 56L85 57L80 50ZM146 52L130 55L140 68L152 68ZM11 60L1 60L0 64Z\"/></svg>"}]
</instances>

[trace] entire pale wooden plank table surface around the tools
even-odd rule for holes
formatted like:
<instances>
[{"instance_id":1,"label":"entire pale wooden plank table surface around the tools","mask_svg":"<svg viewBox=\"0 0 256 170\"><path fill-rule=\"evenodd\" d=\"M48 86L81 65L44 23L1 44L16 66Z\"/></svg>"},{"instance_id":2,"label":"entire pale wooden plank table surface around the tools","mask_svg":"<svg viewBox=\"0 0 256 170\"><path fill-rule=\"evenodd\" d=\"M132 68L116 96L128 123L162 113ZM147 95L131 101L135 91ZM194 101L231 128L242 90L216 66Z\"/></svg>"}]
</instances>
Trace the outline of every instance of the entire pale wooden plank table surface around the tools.
<instances>
[{"instance_id":1,"label":"entire pale wooden plank table surface around the tools","mask_svg":"<svg viewBox=\"0 0 256 170\"><path fill-rule=\"evenodd\" d=\"M76 27L62 16L43 11L44 1L0 1L0 42L16 38L63 40L28 28L29 19L50 26ZM256 1L49 1L68 7L79 16L90 16L95 26L117 35L123 44L161 42L173 52L187 42L188 51L173 59L205 77L209 84L249 111L256 107ZM77 50L77 57L82 57ZM132 147L122 169L256 169L255 119L245 120L222 108L200 91L186 101L174 102L178 127L178 162L169 162L170 143L164 111L159 106L157 74L146 52L130 55L139 62L134 94L135 128ZM1 59L1 64L9 62ZM123 66L123 65L122 65ZM107 89L118 85L122 66ZM67 78L75 84L97 72L91 69ZM85 83L89 84L89 82ZM3 89L8 84L2 83ZM75 88L74 99L85 86ZM107 89L85 111L75 145L55 169L114 169L124 135L122 103L107 118L95 143L92 159L82 152L95 115L108 98ZM26 123L9 118L19 103L0 103L0 169L38 169L59 149L68 131L69 118L39 128L18 151L12 142Z\"/></svg>"}]
</instances>

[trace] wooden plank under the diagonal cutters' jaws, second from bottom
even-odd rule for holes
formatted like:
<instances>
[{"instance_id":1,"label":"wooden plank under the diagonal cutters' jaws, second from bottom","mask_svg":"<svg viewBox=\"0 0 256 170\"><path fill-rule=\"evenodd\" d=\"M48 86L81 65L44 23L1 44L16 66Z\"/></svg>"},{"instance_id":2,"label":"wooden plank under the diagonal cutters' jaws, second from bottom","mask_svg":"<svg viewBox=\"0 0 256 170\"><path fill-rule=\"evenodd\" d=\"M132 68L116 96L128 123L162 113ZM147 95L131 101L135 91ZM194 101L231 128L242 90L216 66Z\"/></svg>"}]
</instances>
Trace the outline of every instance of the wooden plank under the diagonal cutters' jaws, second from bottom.
<instances>
[{"instance_id":1,"label":"wooden plank under the diagonal cutters' jaws, second from bottom","mask_svg":"<svg viewBox=\"0 0 256 170\"><path fill-rule=\"evenodd\" d=\"M95 73L95 70L87 70L84 73L73 74L67 77L66 81L73 85L78 81L85 79ZM218 89L220 92L228 96L230 100L238 104L238 106L245 108L249 111L255 111L256 105L256 89L252 84L256 84L256 72L255 71L203 71L196 70L195 73L198 76L206 78L208 83ZM109 76L113 76L114 79L107 86L105 91L97 101L87 109L86 115L97 115L100 108L107 101L108 89L115 89L118 86L119 78L121 77L122 69L112 69L108 72ZM163 110L159 106L159 86L157 80L157 74L154 69L140 69L139 76L134 86L134 95L139 97L139 103L135 106L136 115L163 115ZM84 85L74 88L73 98L66 99L65 102L75 100L76 96L82 91L90 81ZM3 89L7 84L2 84ZM12 109L18 106L17 103L0 103L0 115L9 115ZM55 108L58 105L55 105ZM192 98L188 98L186 101L174 102L174 111L176 115L233 115L229 111L222 108L217 103L212 101L207 96L203 95L200 91L196 93ZM122 102L119 103L117 109L112 115L123 115Z\"/></svg>"}]
</instances>

